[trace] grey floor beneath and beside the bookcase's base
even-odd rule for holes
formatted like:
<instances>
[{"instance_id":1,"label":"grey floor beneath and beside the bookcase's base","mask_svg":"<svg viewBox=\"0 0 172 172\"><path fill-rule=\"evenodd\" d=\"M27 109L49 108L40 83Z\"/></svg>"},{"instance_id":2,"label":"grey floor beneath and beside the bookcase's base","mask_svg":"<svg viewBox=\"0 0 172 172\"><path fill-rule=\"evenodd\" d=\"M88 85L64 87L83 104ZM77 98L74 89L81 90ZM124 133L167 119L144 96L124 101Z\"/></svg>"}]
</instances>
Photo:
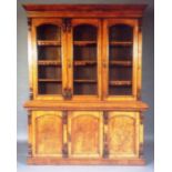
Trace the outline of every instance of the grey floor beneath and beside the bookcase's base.
<instances>
[{"instance_id":1,"label":"grey floor beneath and beside the bookcase's base","mask_svg":"<svg viewBox=\"0 0 172 172\"><path fill-rule=\"evenodd\" d=\"M27 142L18 142L18 171L17 172L153 172L153 143L145 144L144 166L120 165L28 165Z\"/></svg>"}]
</instances>

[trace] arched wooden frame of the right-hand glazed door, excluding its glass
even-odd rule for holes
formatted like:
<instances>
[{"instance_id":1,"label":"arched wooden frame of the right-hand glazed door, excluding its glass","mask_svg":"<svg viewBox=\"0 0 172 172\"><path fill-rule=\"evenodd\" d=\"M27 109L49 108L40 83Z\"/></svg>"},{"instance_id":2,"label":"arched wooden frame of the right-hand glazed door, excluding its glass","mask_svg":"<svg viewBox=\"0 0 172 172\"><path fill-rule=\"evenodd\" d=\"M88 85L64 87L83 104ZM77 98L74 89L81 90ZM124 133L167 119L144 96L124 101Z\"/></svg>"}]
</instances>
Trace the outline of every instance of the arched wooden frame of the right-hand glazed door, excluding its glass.
<instances>
[{"instance_id":1,"label":"arched wooden frame of the right-hand glazed door, excluding its glass","mask_svg":"<svg viewBox=\"0 0 172 172\"><path fill-rule=\"evenodd\" d=\"M127 24L133 28L133 59L132 59L132 95L109 95L109 27L114 24ZM138 88L141 80L141 72L138 73L138 65L141 63L141 53L139 54L139 21L138 19L104 19L103 20L103 55L102 63L105 68L102 68L102 85L103 85L103 99L107 101L114 100L136 100ZM141 50L140 50L141 51ZM141 68L141 64L140 64ZM141 70L141 69L140 69ZM140 85L141 88L141 85Z\"/></svg>"}]
</instances>

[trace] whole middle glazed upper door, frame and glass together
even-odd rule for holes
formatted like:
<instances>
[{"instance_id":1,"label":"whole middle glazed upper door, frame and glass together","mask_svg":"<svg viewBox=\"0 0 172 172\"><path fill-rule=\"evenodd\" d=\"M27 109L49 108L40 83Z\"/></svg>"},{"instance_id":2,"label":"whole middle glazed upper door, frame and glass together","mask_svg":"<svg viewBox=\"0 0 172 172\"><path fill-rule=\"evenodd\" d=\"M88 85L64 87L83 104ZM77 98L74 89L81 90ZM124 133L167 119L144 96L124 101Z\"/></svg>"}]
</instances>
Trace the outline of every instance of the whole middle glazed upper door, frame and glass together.
<instances>
[{"instance_id":1,"label":"whole middle glazed upper door, frame and glass together","mask_svg":"<svg viewBox=\"0 0 172 172\"><path fill-rule=\"evenodd\" d=\"M72 19L68 32L69 88L73 100L101 97L101 23Z\"/></svg>"}]
</instances>

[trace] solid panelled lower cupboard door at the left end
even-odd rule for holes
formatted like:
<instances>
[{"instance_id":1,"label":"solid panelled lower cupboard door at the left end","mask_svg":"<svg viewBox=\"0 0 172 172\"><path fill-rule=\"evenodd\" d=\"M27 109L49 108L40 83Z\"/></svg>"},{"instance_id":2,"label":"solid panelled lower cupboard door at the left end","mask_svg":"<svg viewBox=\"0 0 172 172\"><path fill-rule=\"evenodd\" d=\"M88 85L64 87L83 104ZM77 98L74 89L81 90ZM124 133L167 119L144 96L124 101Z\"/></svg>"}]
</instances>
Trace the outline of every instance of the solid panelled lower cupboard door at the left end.
<instances>
[{"instance_id":1,"label":"solid panelled lower cupboard door at the left end","mask_svg":"<svg viewBox=\"0 0 172 172\"><path fill-rule=\"evenodd\" d=\"M32 133L33 156L62 156L62 112L33 111Z\"/></svg>"}]
</instances>

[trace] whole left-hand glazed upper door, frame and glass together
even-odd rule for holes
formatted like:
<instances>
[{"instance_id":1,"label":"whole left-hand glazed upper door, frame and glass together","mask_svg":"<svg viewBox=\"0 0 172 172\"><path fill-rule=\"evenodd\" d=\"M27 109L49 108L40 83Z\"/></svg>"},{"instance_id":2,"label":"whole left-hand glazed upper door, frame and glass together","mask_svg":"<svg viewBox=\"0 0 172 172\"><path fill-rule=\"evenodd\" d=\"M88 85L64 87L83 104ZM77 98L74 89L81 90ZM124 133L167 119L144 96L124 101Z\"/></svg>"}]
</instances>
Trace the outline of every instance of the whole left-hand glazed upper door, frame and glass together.
<instances>
[{"instance_id":1,"label":"whole left-hand glazed upper door, frame and glass together","mask_svg":"<svg viewBox=\"0 0 172 172\"><path fill-rule=\"evenodd\" d=\"M65 43L62 19L32 19L30 65L34 99L62 100L68 81Z\"/></svg>"}]
</instances>

